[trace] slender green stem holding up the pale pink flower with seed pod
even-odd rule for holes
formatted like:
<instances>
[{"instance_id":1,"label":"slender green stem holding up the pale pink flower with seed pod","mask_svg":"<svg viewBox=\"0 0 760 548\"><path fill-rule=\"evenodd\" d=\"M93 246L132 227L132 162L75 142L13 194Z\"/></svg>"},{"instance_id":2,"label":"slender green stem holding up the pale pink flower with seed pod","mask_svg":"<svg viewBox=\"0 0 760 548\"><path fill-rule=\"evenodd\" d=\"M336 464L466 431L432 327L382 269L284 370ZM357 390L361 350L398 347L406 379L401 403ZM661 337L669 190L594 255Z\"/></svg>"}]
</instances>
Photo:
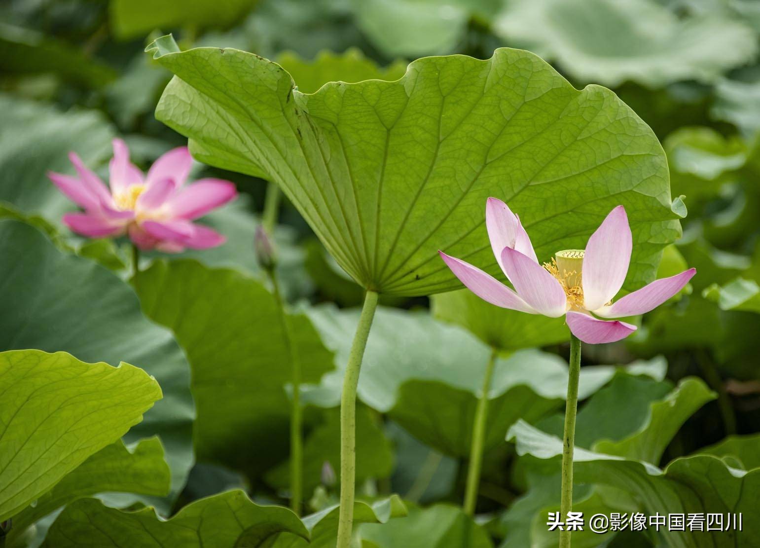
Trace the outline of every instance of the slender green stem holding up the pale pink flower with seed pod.
<instances>
[{"instance_id":1,"label":"slender green stem holding up the pale pink flower with seed pod","mask_svg":"<svg viewBox=\"0 0 760 548\"><path fill-rule=\"evenodd\" d=\"M575 415L578 413L578 379L581 377L581 340L570 334L570 369L568 398L565 407L565 435L562 437L562 499L559 512L562 521L572 510L572 454L575 448ZM570 531L559 532L559 548L570 548Z\"/></svg>"}]
</instances>

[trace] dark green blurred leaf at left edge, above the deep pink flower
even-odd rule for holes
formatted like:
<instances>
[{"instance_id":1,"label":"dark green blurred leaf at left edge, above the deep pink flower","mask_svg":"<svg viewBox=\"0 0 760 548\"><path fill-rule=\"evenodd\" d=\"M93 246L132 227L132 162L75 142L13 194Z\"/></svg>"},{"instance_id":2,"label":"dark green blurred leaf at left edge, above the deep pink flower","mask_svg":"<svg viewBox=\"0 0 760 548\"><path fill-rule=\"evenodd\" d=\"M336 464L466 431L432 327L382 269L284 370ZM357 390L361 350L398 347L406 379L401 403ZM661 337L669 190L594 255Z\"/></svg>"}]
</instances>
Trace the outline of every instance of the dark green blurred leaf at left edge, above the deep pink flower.
<instances>
[{"instance_id":1,"label":"dark green blurred leaf at left edge, above the deep pink flower","mask_svg":"<svg viewBox=\"0 0 760 548\"><path fill-rule=\"evenodd\" d=\"M55 73L85 87L102 87L116 71L67 43L0 23L0 69L7 73Z\"/></svg>"}]
</instances>

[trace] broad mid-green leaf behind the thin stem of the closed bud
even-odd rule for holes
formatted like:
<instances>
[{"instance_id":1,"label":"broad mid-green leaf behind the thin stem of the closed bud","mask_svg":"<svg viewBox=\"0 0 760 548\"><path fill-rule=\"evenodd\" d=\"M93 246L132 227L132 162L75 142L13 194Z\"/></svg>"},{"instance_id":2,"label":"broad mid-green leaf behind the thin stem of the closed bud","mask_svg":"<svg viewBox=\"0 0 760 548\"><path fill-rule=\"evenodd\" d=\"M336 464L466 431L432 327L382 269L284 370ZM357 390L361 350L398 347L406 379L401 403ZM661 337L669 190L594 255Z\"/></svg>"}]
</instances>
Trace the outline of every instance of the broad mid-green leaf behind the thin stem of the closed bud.
<instances>
[{"instance_id":1,"label":"broad mid-green leaf behind the thin stem of the closed bud","mask_svg":"<svg viewBox=\"0 0 760 548\"><path fill-rule=\"evenodd\" d=\"M274 296L252 277L188 259L155 261L132 282L144 312L174 331L187 353L198 457L244 470L277 463L287 451L291 372ZM289 321L302 382L319 382L333 369L332 355L309 318Z\"/></svg>"}]
</instances>

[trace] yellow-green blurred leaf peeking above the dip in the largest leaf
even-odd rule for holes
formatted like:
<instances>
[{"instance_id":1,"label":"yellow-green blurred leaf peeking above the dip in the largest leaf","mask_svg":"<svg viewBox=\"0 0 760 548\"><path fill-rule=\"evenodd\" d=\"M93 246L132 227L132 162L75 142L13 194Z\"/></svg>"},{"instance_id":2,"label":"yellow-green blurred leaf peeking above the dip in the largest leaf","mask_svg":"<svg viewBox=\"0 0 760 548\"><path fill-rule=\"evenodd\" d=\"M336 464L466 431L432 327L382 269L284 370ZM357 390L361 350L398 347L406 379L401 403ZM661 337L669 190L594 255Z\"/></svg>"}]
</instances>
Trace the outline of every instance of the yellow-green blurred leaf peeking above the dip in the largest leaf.
<instances>
[{"instance_id":1,"label":"yellow-green blurred leaf peeking above the dip in the largest leaf","mask_svg":"<svg viewBox=\"0 0 760 548\"><path fill-rule=\"evenodd\" d=\"M293 77L301 93L314 93L327 82L393 81L407 70L407 64L402 61L379 67L356 48L342 54L323 51L313 61L306 61L293 52L284 52L277 56L277 64Z\"/></svg>"}]
</instances>

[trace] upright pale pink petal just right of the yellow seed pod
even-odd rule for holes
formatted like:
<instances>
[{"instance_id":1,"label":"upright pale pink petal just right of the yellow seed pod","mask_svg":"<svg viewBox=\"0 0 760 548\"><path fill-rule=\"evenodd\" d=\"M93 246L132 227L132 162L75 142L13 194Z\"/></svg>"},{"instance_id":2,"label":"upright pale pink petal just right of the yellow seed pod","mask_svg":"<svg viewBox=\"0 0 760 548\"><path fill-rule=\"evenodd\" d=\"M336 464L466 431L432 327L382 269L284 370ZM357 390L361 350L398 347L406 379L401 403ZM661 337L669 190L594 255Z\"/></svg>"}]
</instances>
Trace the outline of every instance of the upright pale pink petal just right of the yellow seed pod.
<instances>
[{"instance_id":1,"label":"upright pale pink petal just right of the yellow seed pod","mask_svg":"<svg viewBox=\"0 0 760 548\"><path fill-rule=\"evenodd\" d=\"M632 247L628 216L619 205L610 211L586 245L581 276L585 309L599 309L616 296L628 274Z\"/></svg>"}]
</instances>

